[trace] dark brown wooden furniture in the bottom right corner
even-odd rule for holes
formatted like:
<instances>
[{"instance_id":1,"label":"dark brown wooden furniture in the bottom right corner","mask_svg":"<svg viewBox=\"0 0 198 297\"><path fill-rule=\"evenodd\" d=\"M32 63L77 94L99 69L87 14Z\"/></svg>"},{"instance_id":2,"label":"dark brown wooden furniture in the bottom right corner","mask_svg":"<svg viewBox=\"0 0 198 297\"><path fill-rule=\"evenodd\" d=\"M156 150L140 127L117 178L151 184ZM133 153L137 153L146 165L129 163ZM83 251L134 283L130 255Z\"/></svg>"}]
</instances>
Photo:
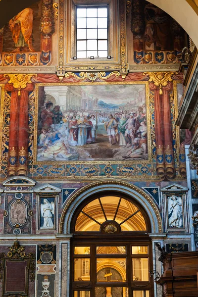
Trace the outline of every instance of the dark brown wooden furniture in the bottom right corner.
<instances>
[{"instance_id":1,"label":"dark brown wooden furniture in the bottom right corner","mask_svg":"<svg viewBox=\"0 0 198 297\"><path fill-rule=\"evenodd\" d=\"M156 282L162 286L163 297L198 297L198 251L168 253L163 268Z\"/></svg>"}]
</instances>

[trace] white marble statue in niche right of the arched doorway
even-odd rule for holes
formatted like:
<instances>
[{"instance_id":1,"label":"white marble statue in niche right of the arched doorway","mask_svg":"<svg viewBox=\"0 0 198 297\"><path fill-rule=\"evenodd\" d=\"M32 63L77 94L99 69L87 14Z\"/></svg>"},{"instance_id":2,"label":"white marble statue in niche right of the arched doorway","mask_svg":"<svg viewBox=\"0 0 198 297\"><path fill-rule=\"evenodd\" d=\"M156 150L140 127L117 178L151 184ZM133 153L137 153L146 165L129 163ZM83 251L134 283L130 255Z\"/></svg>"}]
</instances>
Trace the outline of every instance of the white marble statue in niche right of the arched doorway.
<instances>
[{"instance_id":1,"label":"white marble statue in niche right of the arched doorway","mask_svg":"<svg viewBox=\"0 0 198 297\"><path fill-rule=\"evenodd\" d=\"M168 222L170 227L181 228L182 221L182 198L171 196L168 198Z\"/></svg>"}]
</instances>

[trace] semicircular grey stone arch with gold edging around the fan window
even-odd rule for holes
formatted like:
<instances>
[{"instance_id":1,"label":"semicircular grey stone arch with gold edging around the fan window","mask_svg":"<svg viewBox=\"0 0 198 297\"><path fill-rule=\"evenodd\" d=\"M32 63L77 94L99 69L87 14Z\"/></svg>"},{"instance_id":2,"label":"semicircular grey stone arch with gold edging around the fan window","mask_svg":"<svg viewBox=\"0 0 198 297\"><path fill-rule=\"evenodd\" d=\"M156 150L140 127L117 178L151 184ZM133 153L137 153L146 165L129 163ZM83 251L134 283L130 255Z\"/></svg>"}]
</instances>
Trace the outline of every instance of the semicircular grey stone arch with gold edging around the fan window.
<instances>
[{"instance_id":1,"label":"semicircular grey stone arch with gold edging around the fan window","mask_svg":"<svg viewBox=\"0 0 198 297\"><path fill-rule=\"evenodd\" d=\"M101 181L92 183L77 191L66 201L60 219L60 233L71 233L71 222L75 213L78 213L80 205L87 200L93 200L97 196L120 196L140 205L149 219L150 232L162 233L162 221L159 210L153 200L142 189L135 185L122 181Z\"/></svg>"}]
</instances>

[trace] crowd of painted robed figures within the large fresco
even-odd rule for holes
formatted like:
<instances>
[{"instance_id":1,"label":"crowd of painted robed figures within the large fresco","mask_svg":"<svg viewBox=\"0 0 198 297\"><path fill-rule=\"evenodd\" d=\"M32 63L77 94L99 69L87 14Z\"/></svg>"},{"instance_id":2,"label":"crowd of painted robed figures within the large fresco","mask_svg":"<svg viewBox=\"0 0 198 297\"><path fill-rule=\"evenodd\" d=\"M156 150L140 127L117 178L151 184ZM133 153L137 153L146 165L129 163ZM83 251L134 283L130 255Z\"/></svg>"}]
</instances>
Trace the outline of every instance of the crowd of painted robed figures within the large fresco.
<instances>
[{"instance_id":1,"label":"crowd of painted robed figures within the large fresco","mask_svg":"<svg viewBox=\"0 0 198 297\"><path fill-rule=\"evenodd\" d=\"M74 147L106 142L106 146L129 148L123 159L147 159L147 124L143 107L137 112L62 112L48 101L40 115L38 159L78 159ZM108 137L108 140L107 140ZM109 143L109 145L108 145Z\"/></svg>"}]
</instances>

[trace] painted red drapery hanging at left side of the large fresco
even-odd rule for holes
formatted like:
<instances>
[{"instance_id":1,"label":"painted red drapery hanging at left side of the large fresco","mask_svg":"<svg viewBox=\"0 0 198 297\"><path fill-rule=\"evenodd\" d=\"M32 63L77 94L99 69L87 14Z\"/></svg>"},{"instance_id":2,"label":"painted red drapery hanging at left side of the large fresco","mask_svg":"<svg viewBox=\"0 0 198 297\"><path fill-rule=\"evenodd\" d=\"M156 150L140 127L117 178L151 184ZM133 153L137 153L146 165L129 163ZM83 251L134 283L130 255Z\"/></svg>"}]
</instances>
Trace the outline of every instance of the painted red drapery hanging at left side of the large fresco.
<instances>
[{"instance_id":1,"label":"painted red drapery hanging at left side of the large fresco","mask_svg":"<svg viewBox=\"0 0 198 297\"><path fill-rule=\"evenodd\" d=\"M34 89L28 84L25 89L18 90L6 84L5 90L11 92L10 131L8 148L8 175L26 175L28 158L28 100L29 92Z\"/></svg>"}]
</instances>

